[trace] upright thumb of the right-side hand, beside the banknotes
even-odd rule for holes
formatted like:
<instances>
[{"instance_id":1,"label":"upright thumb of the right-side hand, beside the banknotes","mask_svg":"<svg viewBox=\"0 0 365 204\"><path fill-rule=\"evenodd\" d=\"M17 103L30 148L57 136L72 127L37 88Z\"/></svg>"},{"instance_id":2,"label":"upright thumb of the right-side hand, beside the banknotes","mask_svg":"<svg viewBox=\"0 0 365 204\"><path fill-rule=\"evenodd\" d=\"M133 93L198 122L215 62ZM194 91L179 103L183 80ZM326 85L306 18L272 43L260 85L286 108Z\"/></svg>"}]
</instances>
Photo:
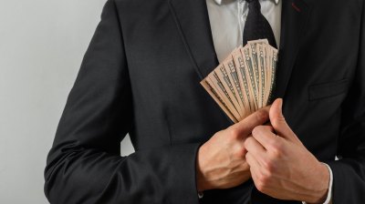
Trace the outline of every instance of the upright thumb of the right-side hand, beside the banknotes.
<instances>
[{"instance_id":1,"label":"upright thumb of the right-side hand, beside the banknotes","mask_svg":"<svg viewBox=\"0 0 365 204\"><path fill-rule=\"evenodd\" d=\"M297 136L287 125L287 121L283 116L282 107L283 107L282 98L276 99L273 105L270 107L269 117L271 125L275 129L276 134L279 135L280 137L287 138L290 140L293 139L297 140Z\"/></svg>"}]
</instances>

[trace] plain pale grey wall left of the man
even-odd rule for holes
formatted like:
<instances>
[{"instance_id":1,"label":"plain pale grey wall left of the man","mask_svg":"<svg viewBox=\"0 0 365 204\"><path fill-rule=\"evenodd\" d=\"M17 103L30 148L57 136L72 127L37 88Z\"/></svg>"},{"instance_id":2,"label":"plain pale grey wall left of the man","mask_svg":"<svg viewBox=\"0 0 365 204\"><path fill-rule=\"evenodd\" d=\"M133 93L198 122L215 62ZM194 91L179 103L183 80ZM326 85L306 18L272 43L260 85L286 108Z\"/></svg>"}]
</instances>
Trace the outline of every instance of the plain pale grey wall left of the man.
<instances>
[{"instance_id":1,"label":"plain pale grey wall left of the man","mask_svg":"<svg viewBox=\"0 0 365 204\"><path fill-rule=\"evenodd\" d=\"M48 203L47 151L105 1L0 0L0 203Z\"/></svg>"}]
</instances>

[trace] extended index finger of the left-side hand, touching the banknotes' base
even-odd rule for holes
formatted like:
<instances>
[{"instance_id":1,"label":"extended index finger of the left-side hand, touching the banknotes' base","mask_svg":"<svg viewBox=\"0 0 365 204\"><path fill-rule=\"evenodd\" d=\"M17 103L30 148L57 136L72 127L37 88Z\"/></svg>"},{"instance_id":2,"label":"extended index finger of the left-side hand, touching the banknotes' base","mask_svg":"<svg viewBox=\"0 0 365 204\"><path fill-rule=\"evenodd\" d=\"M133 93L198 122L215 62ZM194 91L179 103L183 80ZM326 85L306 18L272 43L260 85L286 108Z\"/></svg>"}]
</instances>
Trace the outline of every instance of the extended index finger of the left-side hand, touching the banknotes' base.
<instances>
[{"instance_id":1,"label":"extended index finger of the left-side hand, touching the banknotes' base","mask_svg":"<svg viewBox=\"0 0 365 204\"><path fill-rule=\"evenodd\" d=\"M269 107L261 108L250 116L245 117L242 121L236 123L232 128L235 128L240 133L248 135L256 126L266 123L269 119L268 111Z\"/></svg>"}]
</instances>

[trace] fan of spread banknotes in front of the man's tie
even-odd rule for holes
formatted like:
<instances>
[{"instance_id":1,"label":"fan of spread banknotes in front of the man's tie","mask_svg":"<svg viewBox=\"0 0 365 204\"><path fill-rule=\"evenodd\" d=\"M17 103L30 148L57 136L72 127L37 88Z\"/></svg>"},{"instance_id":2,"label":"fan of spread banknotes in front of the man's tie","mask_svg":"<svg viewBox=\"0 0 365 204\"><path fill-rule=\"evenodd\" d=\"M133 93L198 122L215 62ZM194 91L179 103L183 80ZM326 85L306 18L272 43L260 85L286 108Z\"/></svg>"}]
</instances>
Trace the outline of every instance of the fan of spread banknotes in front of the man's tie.
<instances>
[{"instance_id":1,"label":"fan of spread banknotes in front of the man's tie","mask_svg":"<svg viewBox=\"0 0 365 204\"><path fill-rule=\"evenodd\" d=\"M248 41L235 48L201 84L236 123L270 103L277 55L266 39Z\"/></svg>"}]
</instances>

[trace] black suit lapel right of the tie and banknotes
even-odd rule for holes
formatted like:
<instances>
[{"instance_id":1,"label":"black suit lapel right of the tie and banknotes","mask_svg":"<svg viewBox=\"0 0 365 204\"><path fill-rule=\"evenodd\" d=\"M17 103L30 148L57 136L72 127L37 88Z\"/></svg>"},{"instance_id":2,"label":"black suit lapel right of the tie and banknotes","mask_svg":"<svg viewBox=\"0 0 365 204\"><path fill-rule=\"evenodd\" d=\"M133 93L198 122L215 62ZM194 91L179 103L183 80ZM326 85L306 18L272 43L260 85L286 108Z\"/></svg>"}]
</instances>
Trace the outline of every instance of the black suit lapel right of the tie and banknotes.
<instances>
[{"instance_id":1,"label":"black suit lapel right of the tie and banknotes","mask_svg":"<svg viewBox=\"0 0 365 204\"><path fill-rule=\"evenodd\" d=\"M310 13L308 0L282 0L275 97L284 97Z\"/></svg>"}]
</instances>

